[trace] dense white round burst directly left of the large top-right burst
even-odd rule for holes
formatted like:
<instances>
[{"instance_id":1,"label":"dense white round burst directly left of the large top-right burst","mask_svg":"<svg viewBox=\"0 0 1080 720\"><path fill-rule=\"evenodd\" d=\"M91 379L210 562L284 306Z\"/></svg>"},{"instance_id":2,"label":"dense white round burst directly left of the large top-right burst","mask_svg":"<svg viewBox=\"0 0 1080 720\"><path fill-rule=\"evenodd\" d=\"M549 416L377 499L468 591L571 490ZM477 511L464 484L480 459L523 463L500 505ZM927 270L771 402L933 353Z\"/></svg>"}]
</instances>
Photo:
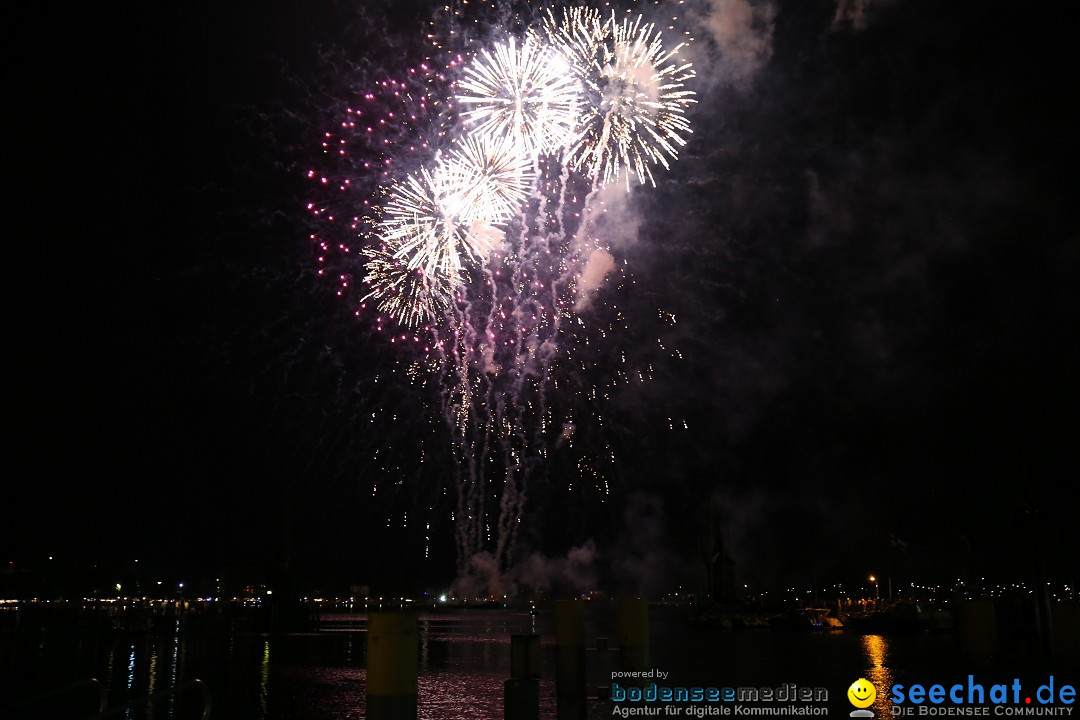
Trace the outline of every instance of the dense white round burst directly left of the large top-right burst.
<instances>
[{"instance_id":1,"label":"dense white round burst directly left of the large top-right burst","mask_svg":"<svg viewBox=\"0 0 1080 720\"><path fill-rule=\"evenodd\" d=\"M555 152L572 137L581 105L577 73L536 33L481 51L464 72L457 99L472 133L504 138L526 155Z\"/></svg>"}]
</instances>

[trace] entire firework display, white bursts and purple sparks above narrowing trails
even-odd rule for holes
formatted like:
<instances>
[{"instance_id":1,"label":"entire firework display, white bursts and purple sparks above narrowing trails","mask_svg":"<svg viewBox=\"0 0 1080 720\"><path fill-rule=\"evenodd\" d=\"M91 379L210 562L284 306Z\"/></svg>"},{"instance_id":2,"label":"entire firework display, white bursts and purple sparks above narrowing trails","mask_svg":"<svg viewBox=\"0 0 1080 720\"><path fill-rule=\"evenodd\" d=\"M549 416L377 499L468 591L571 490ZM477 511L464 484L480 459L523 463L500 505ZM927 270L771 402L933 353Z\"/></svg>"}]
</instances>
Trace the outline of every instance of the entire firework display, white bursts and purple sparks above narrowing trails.
<instances>
[{"instance_id":1,"label":"entire firework display, white bursts and purple sparks above narrowing trails","mask_svg":"<svg viewBox=\"0 0 1080 720\"><path fill-rule=\"evenodd\" d=\"M686 142L693 101L681 45L665 51L640 16L573 8L513 21L498 27L526 29L456 43L432 33L436 57L364 94L378 112L349 107L326 133L324 152L343 158L351 138L363 161L345 168L365 172L309 174L339 189L337 203L309 206L324 229L312 237L324 255L327 225L351 237L336 247L364 263L357 315L422 348L450 438L459 572L487 558L487 592L515 561L530 485L572 445L585 403L568 379L597 283L582 276L615 268L600 189L654 184L652 167ZM340 274L339 294L352 276ZM606 487L596 465L578 468Z\"/></svg>"}]
</instances>

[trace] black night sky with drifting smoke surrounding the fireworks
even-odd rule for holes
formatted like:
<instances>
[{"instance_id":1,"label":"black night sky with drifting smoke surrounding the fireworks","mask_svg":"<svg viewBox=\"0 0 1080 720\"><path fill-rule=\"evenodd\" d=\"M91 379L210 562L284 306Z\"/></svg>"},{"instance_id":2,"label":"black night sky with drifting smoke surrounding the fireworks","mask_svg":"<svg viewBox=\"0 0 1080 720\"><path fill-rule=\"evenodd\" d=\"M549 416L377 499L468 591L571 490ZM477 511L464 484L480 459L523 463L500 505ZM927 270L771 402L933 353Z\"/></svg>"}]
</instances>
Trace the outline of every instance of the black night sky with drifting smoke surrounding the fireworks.
<instances>
[{"instance_id":1,"label":"black night sky with drifting smoke surrounding the fireworks","mask_svg":"<svg viewBox=\"0 0 1080 720\"><path fill-rule=\"evenodd\" d=\"M146 579L243 584L287 558L330 590L454 578L430 397L372 381L400 351L315 275L303 210L352 87L340 58L415 57L430 9L307 4L84 5L12 27L0 561L138 558ZM754 587L887 563L1075 582L1065 18L927 0L689 15L694 134L635 191L623 282L599 291L627 329L596 372L624 352L653 379L582 431L616 452L611 493L567 489L573 462L553 460L522 557L670 589L713 507ZM376 407L399 422L365 423ZM588 567L559 559L572 547Z\"/></svg>"}]
</instances>

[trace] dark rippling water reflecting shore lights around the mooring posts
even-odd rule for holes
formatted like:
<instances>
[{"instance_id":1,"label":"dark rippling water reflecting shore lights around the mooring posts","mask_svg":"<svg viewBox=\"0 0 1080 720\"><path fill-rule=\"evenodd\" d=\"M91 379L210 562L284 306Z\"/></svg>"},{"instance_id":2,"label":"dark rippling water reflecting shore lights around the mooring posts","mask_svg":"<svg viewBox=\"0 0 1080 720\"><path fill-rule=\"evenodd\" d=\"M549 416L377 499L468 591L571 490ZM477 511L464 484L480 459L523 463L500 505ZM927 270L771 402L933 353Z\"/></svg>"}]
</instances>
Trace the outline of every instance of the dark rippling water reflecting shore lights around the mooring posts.
<instances>
[{"instance_id":1,"label":"dark rippling water reflecting shore lights around the mooring posts","mask_svg":"<svg viewBox=\"0 0 1080 720\"><path fill-rule=\"evenodd\" d=\"M107 687L110 706L200 678L213 698L212 718L363 718L365 617L324 615L356 622L341 629L289 635L171 631L168 627L154 634L5 627L0 630L0 707L87 677ZM594 644L596 638L606 637L615 647L617 622L612 603L591 603L586 642ZM828 691L827 707L834 717L846 717L851 710L847 688L860 677L886 688L893 682L961 682L980 669L959 652L951 634L886 637L847 630L701 629L691 627L679 609L664 607L652 609L651 629L652 666L670 674L665 684L820 687ZM513 610L420 613L420 718L501 720L510 636L521 633L541 636L541 717L554 718L553 615ZM610 683L617 663L613 653L590 651L590 687ZM1030 664L1016 670L1032 687L1043 682L1049 671L1055 670ZM1071 682L1076 684L1077 679ZM986 681L994 680L987 677ZM63 703L42 704L25 717L83 717L94 709L94 698L92 690L83 689ZM610 702L593 702L590 718L612 717L612 707ZM200 708L198 692L188 692L117 717L186 720L198 718ZM889 717L888 708L879 695L874 707L878 717Z\"/></svg>"}]
</instances>

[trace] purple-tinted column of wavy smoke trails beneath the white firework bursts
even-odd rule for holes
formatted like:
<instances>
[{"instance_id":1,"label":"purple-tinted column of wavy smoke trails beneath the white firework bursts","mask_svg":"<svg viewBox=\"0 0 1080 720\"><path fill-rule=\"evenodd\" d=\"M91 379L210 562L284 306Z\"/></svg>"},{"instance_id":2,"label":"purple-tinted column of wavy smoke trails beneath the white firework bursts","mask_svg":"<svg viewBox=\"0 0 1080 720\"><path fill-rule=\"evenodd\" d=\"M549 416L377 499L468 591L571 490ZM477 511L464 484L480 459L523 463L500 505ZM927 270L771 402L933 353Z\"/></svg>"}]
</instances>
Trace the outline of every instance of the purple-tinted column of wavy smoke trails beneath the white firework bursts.
<instances>
[{"instance_id":1,"label":"purple-tinted column of wavy smoke trails beneath the white firework bursts","mask_svg":"<svg viewBox=\"0 0 1080 720\"><path fill-rule=\"evenodd\" d=\"M513 557L530 481L569 420L549 398L577 280L592 244L579 242L580 178L554 162L514 227L511 247L477 273L476 288L454 308L440 343L451 368L444 407L461 468L459 553ZM575 185L584 186L576 190Z\"/></svg>"}]
</instances>

